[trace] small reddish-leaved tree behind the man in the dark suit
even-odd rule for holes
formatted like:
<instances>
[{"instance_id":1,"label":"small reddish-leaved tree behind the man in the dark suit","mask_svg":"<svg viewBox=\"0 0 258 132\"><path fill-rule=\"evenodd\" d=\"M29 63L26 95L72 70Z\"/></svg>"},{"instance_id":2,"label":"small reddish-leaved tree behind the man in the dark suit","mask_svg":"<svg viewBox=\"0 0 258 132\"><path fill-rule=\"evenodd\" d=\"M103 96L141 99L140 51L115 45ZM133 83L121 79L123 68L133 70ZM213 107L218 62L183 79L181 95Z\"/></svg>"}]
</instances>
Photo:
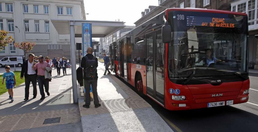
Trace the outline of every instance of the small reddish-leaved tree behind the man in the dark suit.
<instances>
[{"instance_id":1,"label":"small reddish-leaved tree behind the man in the dark suit","mask_svg":"<svg viewBox=\"0 0 258 132\"><path fill-rule=\"evenodd\" d=\"M21 42L21 43L15 42L14 43L14 46L16 48L19 48L19 49L24 51L24 56L25 56L26 59L27 59L27 55L26 54L28 52L30 52L35 45L36 45L35 42Z\"/></svg>"}]
</instances>

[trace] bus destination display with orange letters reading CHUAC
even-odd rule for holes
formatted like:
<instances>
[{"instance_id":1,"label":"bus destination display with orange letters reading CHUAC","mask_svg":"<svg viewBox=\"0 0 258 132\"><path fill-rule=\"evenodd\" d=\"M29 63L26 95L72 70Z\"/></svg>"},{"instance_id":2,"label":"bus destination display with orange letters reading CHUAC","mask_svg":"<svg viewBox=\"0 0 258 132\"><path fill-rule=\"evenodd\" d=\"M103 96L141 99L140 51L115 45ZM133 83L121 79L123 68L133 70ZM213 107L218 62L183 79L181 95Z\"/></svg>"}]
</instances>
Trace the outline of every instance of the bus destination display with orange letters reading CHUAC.
<instances>
[{"instance_id":1,"label":"bus destination display with orange letters reading CHUAC","mask_svg":"<svg viewBox=\"0 0 258 132\"><path fill-rule=\"evenodd\" d=\"M234 28L235 24L230 23L229 20L226 18L186 16L187 26Z\"/></svg>"}]
</instances>

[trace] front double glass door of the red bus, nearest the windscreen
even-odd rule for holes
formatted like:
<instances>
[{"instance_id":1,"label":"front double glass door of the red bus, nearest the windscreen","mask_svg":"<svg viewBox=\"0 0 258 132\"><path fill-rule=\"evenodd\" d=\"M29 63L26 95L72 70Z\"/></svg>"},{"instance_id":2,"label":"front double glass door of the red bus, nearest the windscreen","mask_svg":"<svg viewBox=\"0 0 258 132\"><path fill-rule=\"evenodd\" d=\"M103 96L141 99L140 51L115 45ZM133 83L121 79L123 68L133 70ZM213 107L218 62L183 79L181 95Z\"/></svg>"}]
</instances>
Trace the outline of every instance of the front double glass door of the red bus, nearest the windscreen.
<instances>
[{"instance_id":1,"label":"front double glass door of the red bus, nearest the windscreen","mask_svg":"<svg viewBox=\"0 0 258 132\"><path fill-rule=\"evenodd\" d=\"M161 30L146 34L146 84L147 94L164 103L164 44Z\"/></svg>"}]
</instances>

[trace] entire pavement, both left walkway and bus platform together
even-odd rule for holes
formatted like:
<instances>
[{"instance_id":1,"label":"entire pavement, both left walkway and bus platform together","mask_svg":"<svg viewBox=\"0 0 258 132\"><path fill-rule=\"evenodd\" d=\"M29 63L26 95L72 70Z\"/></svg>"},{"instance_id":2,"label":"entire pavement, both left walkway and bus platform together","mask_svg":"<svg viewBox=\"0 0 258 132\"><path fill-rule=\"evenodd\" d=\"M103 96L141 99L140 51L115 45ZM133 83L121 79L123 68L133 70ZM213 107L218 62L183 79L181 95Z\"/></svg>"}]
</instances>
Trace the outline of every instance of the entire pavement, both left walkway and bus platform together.
<instances>
[{"instance_id":1,"label":"entire pavement, both left walkway and bus platform together","mask_svg":"<svg viewBox=\"0 0 258 132\"><path fill-rule=\"evenodd\" d=\"M62 70L61 70L62 72ZM35 99L30 86L29 100L24 102L25 85L13 89L14 101L8 93L0 96L0 131L15 132L131 132L172 131L157 112L114 75L103 75L103 63L98 67L98 96L101 106L90 108L73 104L71 69L66 76L56 76L49 83L50 96ZM62 73L61 73L62 75ZM56 122L56 123L54 123ZM48 124L46 124L48 123Z\"/></svg>"}]
</instances>

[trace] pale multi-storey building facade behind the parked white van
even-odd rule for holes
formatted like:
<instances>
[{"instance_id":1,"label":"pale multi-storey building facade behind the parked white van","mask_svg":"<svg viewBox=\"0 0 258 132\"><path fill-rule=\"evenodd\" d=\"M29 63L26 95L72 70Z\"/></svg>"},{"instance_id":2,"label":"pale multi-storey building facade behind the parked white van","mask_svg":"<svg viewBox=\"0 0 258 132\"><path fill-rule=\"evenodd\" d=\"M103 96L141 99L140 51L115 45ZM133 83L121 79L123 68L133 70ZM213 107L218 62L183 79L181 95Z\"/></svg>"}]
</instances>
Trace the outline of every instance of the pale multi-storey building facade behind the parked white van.
<instances>
[{"instance_id":1,"label":"pale multi-storey building facade behind the parked white van","mask_svg":"<svg viewBox=\"0 0 258 132\"><path fill-rule=\"evenodd\" d=\"M85 20L83 0L0 0L0 28L15 42L36 43L31 53L70 59L70 35L60 35L51 19ZM0 51L5 56L24 56L13 44Z\"/></svg>"}]
</instances>

